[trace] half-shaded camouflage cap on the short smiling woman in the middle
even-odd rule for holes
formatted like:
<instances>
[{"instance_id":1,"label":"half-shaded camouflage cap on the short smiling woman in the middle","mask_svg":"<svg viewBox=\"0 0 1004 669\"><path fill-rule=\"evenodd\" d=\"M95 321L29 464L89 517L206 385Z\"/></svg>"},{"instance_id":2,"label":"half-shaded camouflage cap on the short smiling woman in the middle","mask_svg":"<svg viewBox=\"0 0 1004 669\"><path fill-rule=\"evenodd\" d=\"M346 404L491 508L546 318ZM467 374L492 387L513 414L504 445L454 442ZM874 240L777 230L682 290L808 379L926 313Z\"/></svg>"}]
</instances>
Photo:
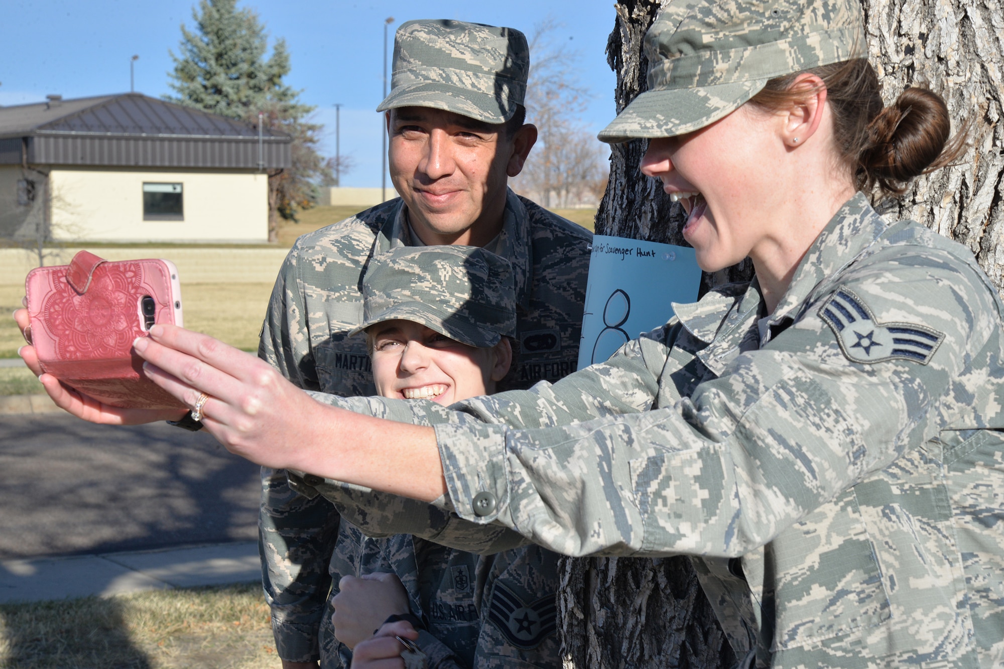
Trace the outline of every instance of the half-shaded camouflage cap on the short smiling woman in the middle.
<instances>
[{"instance_id":1,"label":"half-shaded camouflage cap on the short smiling woman in the middle","mask_svg":"<svg viewBox=\"0 0 1004 669\"><path fill-rule=\"evenodd\" d=\"M350 334L399 318L478 348L516 332L512 266L476 246L404 246L376 256L362 297L362 324Z\"/></svg>"}]
</instances>

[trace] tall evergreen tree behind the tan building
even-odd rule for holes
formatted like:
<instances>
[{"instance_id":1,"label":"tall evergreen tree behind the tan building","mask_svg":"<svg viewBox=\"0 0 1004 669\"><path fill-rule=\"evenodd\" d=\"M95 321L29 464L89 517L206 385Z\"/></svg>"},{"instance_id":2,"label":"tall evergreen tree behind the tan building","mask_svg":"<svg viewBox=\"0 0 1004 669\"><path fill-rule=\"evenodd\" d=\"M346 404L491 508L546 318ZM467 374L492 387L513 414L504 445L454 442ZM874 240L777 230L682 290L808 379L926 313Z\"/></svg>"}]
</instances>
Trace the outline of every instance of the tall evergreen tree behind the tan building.
<instances>
[{"instance_id":1,"label":"tall evergreen tree behind the tan building","mask_svg":"<svg viewBox=\"0 0 1004 669\"><path fill-rule=\"evenodd\" d=\"M193 8L196 30L182 26L181 55L173 52L175 70L169 85L173 102L257 125L293 138L292 167L269 170L269 240L276 241L278 218L296 219L296 211L316 202L314 183L330 175L316 146L323 126L306 122L315 107L302 104L286 85L286 42L278 39L265 59L267 38L258 16L238 9L237 0L201 0Z\"/></svg>"}]
</instances>

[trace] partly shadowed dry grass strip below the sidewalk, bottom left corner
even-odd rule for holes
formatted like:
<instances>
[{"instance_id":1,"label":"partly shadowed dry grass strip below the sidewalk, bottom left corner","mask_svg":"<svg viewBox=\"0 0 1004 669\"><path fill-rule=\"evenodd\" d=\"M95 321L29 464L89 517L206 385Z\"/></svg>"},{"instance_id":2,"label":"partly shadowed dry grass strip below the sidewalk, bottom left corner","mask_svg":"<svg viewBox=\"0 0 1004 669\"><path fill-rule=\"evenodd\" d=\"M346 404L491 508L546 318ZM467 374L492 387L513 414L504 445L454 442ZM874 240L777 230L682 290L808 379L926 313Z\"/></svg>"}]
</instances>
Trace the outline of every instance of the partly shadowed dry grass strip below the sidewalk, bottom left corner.
<instances>
[{"instance_id":1,"label":"partly shadowed dry grass strip below the sidewalk, bottom left corner","mask_svg":"<svg viewBox=\"0 0 1004 669\"><path fill-rule=\"evenodd\" d=\"M0 606L2 669L278 664L259 584Z\"/></svg>"}]
</instances>

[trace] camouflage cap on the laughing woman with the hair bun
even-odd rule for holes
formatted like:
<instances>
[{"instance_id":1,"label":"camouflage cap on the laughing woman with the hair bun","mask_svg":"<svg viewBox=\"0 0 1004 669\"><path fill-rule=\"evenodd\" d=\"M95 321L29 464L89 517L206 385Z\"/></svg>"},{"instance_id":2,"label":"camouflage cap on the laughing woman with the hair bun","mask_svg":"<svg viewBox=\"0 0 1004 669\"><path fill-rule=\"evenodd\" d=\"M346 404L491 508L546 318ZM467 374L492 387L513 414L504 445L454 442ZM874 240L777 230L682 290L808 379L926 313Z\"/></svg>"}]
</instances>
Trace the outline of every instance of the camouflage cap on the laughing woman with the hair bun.
<instances>
[{"instance_id":1,"label":"camouflage cap on the laughing woman with the hair bun","mask_svg":"<svg viewBox=\"0 0 1004 669\"><path fill-rule=\"evenodd\" d=\"M863 40L859 0L671 0L645 35L649 89L598 138L704 128L768 79L853 58Z\"/></svg>"}]
</instances>

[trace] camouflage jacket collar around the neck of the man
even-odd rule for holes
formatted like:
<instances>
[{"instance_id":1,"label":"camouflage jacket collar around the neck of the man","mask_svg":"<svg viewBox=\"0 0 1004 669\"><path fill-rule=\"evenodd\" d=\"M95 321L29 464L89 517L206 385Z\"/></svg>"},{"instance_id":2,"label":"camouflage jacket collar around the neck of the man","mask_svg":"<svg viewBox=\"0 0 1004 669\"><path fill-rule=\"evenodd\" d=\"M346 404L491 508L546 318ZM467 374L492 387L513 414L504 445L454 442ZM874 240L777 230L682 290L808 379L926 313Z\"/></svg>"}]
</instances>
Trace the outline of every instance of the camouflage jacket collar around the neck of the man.
<instances>
[{"instance_id":1,"label":"camouflage jacket collar around the neck of the man","mask_svg":"<svg viewBox=\"0 0 1004 669\"><path fill-rule=\"evenodd\" d=\"M413 246L408 225L408 207L405 201L399 199L398 209L376 236L374 250L386 253L399 246ZM512 265L512 275L515 280L516 301L523 308L530 304L529 286L533 282L533 258L530 247L530 217L526 207L519 197L506 189L505 213L502 219L502 231L498 236L495 253L502 256Z\"/></svg>"}]
</instances>

